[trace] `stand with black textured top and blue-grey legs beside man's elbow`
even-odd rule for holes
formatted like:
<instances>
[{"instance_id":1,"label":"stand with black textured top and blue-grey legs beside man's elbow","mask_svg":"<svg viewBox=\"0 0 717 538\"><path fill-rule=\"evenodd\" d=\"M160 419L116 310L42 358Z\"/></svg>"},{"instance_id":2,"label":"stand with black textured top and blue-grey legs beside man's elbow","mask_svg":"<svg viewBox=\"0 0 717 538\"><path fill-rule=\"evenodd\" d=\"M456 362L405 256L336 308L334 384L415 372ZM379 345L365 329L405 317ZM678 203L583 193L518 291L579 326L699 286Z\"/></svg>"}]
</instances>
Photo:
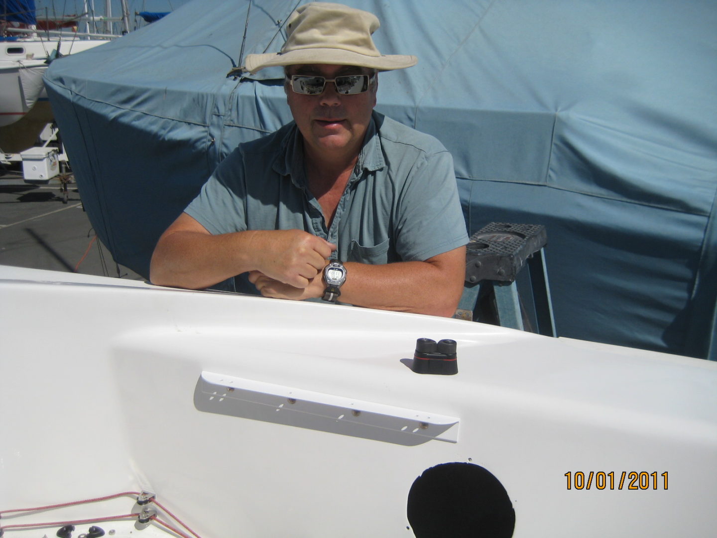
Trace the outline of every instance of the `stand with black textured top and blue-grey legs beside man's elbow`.
<instances>
[{"instance_id":1,"label":"stand with black textured top and blue-grey legs beside man's elbow","mask_svg":"<svg viewBox=\"0 0 717 538\"><path fill-rule=\"evenodd\" d=\"M556 336L543 256L546 242L543 225L491 222L471 235L465 288L455 317L521 331L527 326L532 332ZM525 265L527 274L521 273Z\"/></svg>"}]
</instances>

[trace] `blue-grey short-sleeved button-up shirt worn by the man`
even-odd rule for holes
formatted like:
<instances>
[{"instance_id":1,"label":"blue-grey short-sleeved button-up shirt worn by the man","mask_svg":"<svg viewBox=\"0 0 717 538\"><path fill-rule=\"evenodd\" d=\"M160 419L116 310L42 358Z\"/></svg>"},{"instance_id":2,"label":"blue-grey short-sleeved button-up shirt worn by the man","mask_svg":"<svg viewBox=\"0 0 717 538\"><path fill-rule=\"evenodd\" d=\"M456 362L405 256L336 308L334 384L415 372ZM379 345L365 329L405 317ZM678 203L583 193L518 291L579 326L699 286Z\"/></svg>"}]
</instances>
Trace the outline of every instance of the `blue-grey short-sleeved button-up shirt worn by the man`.
<instances>
[{"instance_id":1,"label":"blue-grey short-sleeved button-up shirt worn by the man","mask_svg":"<svg viewBox=\"0 0 717 538\"><path fill-rule=\"evenodd\" d=\"M423 261L468 242L451 155L375 111L331 227L307 187L293 122L240 144L185 211L212 234L304 230L337 245L344 262ZM257 293L246 278L236 291Z\"/></svg>"}]
</instances>

